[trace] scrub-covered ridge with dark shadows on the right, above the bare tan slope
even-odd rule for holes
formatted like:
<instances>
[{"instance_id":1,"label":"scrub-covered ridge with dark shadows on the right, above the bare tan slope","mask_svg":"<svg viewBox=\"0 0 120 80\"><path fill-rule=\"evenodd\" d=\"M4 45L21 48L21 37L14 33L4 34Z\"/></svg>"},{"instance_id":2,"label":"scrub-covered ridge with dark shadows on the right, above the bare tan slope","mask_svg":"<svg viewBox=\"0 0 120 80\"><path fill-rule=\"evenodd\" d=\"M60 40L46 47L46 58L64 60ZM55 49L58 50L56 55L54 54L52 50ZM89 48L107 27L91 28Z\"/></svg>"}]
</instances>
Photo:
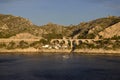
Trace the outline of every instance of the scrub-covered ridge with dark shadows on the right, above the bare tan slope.
<instances>
[{"instance_id":1,"label":"scrub-covered ridge with dark shadows on the right, above the bare tan slope","mask_svg":"<svg viewBox=\"0 0 120 80\"><path fill-rule=\"evenodd\" d=\"M74 25L70 36L73 38L95 38L99 32L120 22L120 17L109 16Z\"/></svg>"}]
</instances>

